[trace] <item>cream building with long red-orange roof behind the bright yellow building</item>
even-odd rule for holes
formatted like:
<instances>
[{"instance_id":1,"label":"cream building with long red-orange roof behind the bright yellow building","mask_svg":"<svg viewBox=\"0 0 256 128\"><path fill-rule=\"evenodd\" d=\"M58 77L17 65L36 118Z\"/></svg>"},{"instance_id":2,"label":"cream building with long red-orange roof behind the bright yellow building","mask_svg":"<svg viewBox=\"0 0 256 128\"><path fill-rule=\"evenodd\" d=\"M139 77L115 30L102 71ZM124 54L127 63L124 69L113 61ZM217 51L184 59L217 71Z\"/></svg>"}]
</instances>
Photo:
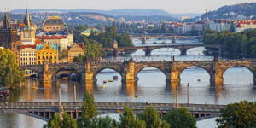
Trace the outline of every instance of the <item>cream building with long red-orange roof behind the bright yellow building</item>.
<instances>
[{"instance_id":1,"label":"cream building with long red-orange roof behind the bright yellow building","mask_svg":"<svg viewBox=\"0 0 256 128\"><path fill-rule=\"evenodd\" d=\"M41 40L44 44L57 44L62 51L63 49L67 49L69 44L69 38L67 35L60 36L36 36L36 39Z\"/></svg>"}]
</instances>

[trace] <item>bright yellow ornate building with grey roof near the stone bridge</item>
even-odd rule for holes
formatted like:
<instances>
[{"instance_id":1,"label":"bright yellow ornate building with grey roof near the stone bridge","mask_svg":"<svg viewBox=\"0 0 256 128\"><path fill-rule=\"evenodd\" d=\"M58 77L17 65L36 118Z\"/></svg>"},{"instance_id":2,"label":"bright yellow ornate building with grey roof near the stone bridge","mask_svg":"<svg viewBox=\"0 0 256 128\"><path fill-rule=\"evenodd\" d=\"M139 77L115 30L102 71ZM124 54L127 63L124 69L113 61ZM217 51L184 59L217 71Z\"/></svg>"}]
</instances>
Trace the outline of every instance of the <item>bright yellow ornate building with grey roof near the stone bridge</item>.
<instances>
[{"instance_id":1,"label":"bright yellow ornate building with grey roof near the stone bridge","mask_svg":"<svg viewBox=\"0 0 256 128\"><path fill-rule=\"evenodd\" d=\"M41 65L44 61L58 63L58 46L56 44L37 45L37 64Z\"/></svg>"}]
</instances>

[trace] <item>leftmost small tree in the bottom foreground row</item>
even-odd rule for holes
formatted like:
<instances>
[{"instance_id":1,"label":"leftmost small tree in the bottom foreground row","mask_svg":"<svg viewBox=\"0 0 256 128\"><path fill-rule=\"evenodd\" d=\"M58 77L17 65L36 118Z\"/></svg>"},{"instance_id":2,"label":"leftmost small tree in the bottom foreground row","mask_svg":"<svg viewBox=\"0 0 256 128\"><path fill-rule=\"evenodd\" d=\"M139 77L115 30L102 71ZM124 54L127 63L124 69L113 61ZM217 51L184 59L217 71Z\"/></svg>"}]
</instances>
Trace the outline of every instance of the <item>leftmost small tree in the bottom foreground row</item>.
<instances>
[{"instance_id":1,"label":"leftmost small tree in the bottom foreground row","mask_svg":"<svg viewBox=\"0 0 256 128\"><path fill-rule=\"evenodd\" d=\"M49 121L44 125L44 128L61 128L61 124L61 118L59 117L58 113L55 113L53 118L49 118Z\"/></svg>"}]
</instances>

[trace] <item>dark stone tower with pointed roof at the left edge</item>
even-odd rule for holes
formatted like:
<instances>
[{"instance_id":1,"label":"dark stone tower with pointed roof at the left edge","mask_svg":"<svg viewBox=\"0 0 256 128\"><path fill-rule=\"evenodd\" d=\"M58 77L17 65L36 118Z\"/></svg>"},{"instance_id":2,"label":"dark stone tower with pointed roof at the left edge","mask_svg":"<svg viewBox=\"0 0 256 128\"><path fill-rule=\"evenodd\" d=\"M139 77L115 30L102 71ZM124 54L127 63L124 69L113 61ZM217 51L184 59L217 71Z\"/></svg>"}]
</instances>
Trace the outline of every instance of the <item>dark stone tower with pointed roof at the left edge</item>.
<instances>
[{"instance_id":1,"label":"dark stone tower with pointed roof at the left edge","mask_svg":"<svg viewBox=\"0 0 256 128\"><path fill-rule=\"evenodd\" d=\"M0 29L0 47L11 49L18 57L17 40L17 29L11 27L9 13L5 13L3 27Z\"/></svg>"}]
</instances>

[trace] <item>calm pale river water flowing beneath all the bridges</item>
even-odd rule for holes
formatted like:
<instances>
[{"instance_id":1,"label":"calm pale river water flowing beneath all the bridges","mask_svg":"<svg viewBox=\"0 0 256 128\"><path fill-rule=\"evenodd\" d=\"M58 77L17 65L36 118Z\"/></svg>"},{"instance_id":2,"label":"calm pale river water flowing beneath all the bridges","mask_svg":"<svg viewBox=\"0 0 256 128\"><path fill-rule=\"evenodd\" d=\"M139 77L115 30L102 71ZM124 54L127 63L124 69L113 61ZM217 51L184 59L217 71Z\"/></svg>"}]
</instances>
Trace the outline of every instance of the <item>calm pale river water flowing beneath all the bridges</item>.
<instances>
[{"instance_id":1,"label":"calm pale river water flowing beneath all the bridges","mask_svg":"<svg viewBox=\"0 0 256 128\"><path fill-rule=\"evenodd\" d=\"M149 40L162 43L170 40ZM134 44L139 45L138 40ZM195 40L182 40L177 43L194 43ZM155 49L151 56L144 56L143 50L131 55L104 58L106 61L124 61L132 57L137 61L170 61L171 55L175 55L179 61L202 61L212 60L212 56L203 54L204 48L190 49L188 55L179 55L177 49ZM111 83L103 84L103 80L119 79ZM224 85L222 88L214 88L210 85L209 74L201 67L189 67L181 74L181 85L178 90L179 101L187 102L187 83L189 83L190 103L208 104L228 104L241 100L255 101L256 93L253 85L253 73L245 67L230 67L224 73ZM104 69L97 74L96 85L80 84L68 80L58 79L53 84L39 84L37 79L25 79L15 90L11 90L11 95L2 102L58 102L58 88L61 87L61 102L74 102L73 86L76 86L77 101L82 102L84 90L89 90L94 94L96 102L175 102L175 91L166 85L166 76L154 67L146 67L138 74L138 81L134 88L122 88L119 73L112 69ZM200 80L198 80L200 79ZM105 85L105 89L102 88ZM38 86L38 89L32 89ZM138 96L138 97L135 97ZM115 115L116 116L116 115ZM117 118L117 117L114 117ZM26 128L42 127L44 121L34 119L26 115L4 113L0 115L0 127ZM199 128L216 127L215 119L206 119L197 122Z\"/></svg>"}]
</instances>

